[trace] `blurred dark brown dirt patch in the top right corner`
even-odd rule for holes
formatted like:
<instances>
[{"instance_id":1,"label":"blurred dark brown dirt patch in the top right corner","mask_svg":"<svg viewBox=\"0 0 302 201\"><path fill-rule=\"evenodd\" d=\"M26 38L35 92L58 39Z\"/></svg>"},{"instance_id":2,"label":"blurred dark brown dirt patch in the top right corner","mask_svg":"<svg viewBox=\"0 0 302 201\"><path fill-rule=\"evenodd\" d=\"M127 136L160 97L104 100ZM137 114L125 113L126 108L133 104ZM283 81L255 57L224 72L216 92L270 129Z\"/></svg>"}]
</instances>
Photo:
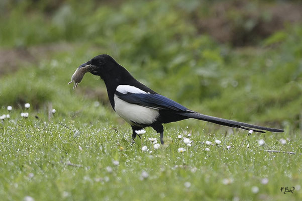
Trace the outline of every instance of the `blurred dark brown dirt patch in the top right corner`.
<instances>
[{"instance_id":1,"label":"blurred dark brown dirt patch in the top right corner","mask_svg":"<svg viewBox=\"0 0 302 201\"><path fill-rule=\"evenodd\" d=\"M211 4L209 15L192 14L199 33L234 46L255 45L286 25L302 23L302 5L295 2L227 1Z\"/></svg>"}]
</instances>

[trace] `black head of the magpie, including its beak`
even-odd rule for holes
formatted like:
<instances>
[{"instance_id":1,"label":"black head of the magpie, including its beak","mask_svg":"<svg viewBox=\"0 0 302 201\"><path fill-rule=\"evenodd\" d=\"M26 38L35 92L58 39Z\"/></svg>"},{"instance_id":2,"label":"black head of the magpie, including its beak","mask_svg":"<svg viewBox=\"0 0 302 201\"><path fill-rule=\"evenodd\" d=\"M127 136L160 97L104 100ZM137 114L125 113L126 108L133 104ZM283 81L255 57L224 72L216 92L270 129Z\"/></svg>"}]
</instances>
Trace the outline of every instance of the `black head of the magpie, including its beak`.
<instances>
[{"instance_id":1,"label":"black head of the magpie, including its beak","mask_svg":"<svg viewBox=\"0 0 302 201\"><path fill-rule=\"evenodd\" d=\"M83 63L79 68L87 68L88 72L104 79L107 75L118 71L119 64L109 55L101 54Z\"/></svg>"}]
</instances>

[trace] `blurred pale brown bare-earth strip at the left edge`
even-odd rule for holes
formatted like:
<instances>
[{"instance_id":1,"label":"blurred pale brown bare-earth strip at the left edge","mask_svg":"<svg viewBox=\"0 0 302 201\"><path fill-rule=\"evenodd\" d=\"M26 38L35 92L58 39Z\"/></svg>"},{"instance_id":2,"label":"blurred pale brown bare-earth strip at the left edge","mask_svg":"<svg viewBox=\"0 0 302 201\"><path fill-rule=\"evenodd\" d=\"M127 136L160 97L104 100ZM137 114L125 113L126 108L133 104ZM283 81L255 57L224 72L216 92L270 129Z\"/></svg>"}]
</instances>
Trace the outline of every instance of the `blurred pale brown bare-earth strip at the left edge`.
<instances>
[{"instance_id":1,"label":"blurred pale brown bare-earth strip at the left edge","mask_svg":"<svg viewBox=\"0 0 302 201\"><path fill-rule=\"evenodd\" d=\"M20 66L37 64L52 53L72 50L71 44L47 44L28 48L0 49L0 76L16 71Z\"/></svg>"}]
</instances>

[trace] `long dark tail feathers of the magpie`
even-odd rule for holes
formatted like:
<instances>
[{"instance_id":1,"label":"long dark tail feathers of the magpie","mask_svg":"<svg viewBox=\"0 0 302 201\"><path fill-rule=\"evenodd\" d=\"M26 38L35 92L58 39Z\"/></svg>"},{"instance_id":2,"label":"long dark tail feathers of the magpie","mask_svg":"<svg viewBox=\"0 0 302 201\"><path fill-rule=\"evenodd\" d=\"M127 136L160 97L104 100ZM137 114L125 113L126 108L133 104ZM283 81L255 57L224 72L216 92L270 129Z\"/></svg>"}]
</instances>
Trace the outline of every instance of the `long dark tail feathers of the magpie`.
<instances>
[{"instance_id":1,"label":"long dark tail feathers of the magpie","mask_svg":"<svg viewBox=\"0 0 302 201\"><path fill-rule=\"evenodd\" d=\"M265 133L264 131L282 133L284 131L283 129L273 129L273 128L268 128L268 127L256 126L256 125L247 124L247 123L243 123L243 122L236 122L233 120L227 120L227 119L222 119L222 118L218 118L218 117L203 115L203 114L200 114L197 112L185 112L185 113L181 113L181 115L185 116L185 117L193 118L193 119L212 122L212 123L223 125L223 126L235 127L235 128L245 129L245 130L253 130L254 132L259 132L259 133ZM264 131L259 131L259 130L255 130L255 129L264 130Z\"/></svg>"}]
</instances>

